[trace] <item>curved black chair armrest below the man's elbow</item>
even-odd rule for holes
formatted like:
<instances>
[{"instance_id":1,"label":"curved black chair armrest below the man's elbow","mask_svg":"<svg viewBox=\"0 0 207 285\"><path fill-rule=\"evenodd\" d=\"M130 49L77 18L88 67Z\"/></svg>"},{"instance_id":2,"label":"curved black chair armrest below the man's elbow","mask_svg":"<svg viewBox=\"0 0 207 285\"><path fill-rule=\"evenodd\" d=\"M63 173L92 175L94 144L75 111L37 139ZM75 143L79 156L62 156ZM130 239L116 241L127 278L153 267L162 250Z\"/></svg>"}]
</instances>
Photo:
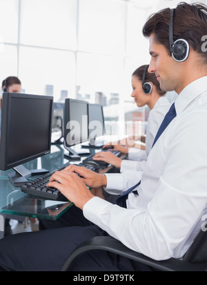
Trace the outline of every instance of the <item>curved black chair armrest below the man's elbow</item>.
<instances>
[{"instance_id":1,"label":"curved black chair armrest below the man's elbow","mask_svg":"<svg viewBox=\"0 0 207 285\"><path fill-rule=\"evenodd\" d=\"M114 239L113 237L92 237L88 239L86 242L83 242L75 250L69 255L68 259L66 260L65 264L61 271L71 271L72 264L75 261L75 258L88 250L93 249L100 249L100 250L107 250L111 253L115 253L117 255L122 255L129 259L133 259L137 262L141 262L142 264L146 264L151 266L152 268L156 268L159 271L206 271L207 270L207 263L201 264L193 264L190 262L184 262L183 260L170 258L162 261L157 261L151 259L150 257L146 257L141 253L137 253L130 248L127 248L119 242L119 240Z\"/></svg>"}]
</instances>

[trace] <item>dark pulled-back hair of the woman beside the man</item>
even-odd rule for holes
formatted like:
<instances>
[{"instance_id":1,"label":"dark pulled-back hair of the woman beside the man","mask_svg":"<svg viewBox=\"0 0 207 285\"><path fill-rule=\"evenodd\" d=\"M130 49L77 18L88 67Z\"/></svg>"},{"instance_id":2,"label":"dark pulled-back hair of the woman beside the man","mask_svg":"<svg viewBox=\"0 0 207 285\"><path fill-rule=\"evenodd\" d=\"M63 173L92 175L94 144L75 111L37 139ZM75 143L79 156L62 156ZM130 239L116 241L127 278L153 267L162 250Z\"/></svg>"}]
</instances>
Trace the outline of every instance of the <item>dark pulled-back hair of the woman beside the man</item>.
<instances>
[{"instance_id":1,"label":"dark pulled-back hair of the woman beside the man","mask_svg":"<svg viewBox=\"0 0 207 285\"><path fill-rule=\"evenodd\" d=\"M139 68L137 68L132 73L132 76L136 76L140 81L142 81L142 77L144 75L145 68L146 68L146 65L145 66L140 66ZM146 75L145 75L145 79L144 79L144 83L146 83L146 82L152 82L155 85L157 93L159 94L159 96L164 96L166 94L166 91L163 91L163 90L160 89L159 81L157 81L155 73L149 73L147 71Z\"/></svg>"}]
</instances>

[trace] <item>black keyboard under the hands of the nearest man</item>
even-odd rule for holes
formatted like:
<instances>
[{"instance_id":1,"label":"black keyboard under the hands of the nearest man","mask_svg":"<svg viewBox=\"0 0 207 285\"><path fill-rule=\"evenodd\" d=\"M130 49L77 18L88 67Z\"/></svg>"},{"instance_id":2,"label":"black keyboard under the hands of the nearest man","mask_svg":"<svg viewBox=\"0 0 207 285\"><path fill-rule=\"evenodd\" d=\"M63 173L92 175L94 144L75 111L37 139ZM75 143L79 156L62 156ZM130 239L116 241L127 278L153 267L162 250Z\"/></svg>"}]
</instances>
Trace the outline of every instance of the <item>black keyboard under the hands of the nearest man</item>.
<instances>
[{"instance_id":1,"label":"black keyboard under the hands of the nearest man","mask_svg":"<svg viewBox=\"0 0 207 285\"><path fill-rule=\"evenodd\" d=\"M66 166L68 165L69 164L67 164ZM41 175L37 179L28 181L26 184L23 184L23 186L21 186L21 191L39 199L48 199L63 202L68 201L68 199L57 188L46 186L52 174L55 173L55 171L57 170L63 170L64 168L66 168L66 166L56 168L55 170L52 170L49 173L46 173L45 175ZM93 166L84 166L92 171L96 170Z\"/></svg>"}]
</instances>

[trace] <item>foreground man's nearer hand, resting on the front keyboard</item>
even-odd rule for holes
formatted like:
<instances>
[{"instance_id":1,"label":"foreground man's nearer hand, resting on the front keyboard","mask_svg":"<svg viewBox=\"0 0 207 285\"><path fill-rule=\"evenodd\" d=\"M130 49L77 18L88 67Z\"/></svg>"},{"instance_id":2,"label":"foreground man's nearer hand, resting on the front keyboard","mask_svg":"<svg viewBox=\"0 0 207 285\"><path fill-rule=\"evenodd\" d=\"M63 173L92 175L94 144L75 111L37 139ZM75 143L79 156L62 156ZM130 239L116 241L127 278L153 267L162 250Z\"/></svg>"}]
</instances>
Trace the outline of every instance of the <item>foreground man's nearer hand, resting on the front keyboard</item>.
<instances>
[{"instance_id":1,"label":"foreground man's nearer hand, resting on the front keyboard","mask_svg":"<svg viewBox=\"0 0 207 285\"><path fill-rule=\"evenodd\" d=\"M74 203L75 206L82 210L83 206L94 197L77 174L66 170L56 171L50 177L47 186L57 188L65 197Z\"/></svg>"}]
</instances>

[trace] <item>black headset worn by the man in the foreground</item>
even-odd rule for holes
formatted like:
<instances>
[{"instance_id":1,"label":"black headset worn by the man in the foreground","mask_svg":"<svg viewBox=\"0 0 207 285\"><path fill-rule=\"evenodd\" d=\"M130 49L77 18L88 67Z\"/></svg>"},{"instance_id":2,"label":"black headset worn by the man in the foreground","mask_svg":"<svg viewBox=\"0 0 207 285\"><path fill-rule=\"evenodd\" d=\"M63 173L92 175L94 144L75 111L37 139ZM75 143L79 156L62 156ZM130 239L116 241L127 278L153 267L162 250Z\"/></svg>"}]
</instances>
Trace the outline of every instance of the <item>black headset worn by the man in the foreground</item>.
<instances>
[{"instance_id":1,"label":"black headset worn by the man in the foreground","mask_svg":"<svg viewBox=\"0 0 207 285\"><path fill-rule=\"evenodd\" d=\"M182 62L188 58L190 52L190 46L188 41L185 39L177 39L173 41L173 14L175 9L170 9L170 26L169 26L169 41L170 41L170 52L175 61Z\"/></svg>"}]
</instances>

